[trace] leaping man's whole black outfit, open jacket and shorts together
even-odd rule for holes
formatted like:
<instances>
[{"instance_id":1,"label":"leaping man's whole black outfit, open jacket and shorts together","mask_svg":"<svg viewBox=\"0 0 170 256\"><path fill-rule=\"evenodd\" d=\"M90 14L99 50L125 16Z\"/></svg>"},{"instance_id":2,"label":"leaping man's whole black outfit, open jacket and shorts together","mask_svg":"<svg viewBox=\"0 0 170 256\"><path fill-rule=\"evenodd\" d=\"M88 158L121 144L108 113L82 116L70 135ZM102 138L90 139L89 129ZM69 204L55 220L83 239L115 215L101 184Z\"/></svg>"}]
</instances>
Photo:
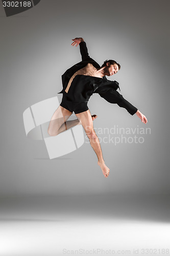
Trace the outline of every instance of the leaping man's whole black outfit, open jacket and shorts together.
<instances>
[{"instance_id":1,"label":"leaping man's whole black outfit, open jacket and shorts together","mask_svg":"<svg viewBox=\"0 0 170 256\"><path fill-rule=\"evenodd\" d=\"M59 93L63 93L63 98L60 105L63 106L63 108L78 114L88 110L87 102L90 96L93 93L98 93L108 102L117 103L121 108L125 108L131 115L134 115L137 108L116 91L117 89L120 90L119 83L117 81L108 80L106 76L100 78L87 75L76 75L70 84L68 92L65 92L71 76L78 70L84 68L88 63L91 63L96 69L101 68L95 60L90 58L86 42L80 42L79 46L82 61L66 70L62 75L63 90Z\"/></svg>"}]
</instances>

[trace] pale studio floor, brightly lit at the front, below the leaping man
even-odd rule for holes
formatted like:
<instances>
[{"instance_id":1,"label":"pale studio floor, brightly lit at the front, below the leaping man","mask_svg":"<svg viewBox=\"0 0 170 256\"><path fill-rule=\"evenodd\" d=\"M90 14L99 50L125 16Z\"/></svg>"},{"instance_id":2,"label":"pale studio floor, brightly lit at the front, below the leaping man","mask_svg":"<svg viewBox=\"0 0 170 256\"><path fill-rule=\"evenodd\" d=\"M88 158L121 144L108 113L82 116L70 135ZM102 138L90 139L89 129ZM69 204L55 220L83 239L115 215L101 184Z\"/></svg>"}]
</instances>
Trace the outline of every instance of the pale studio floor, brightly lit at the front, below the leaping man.
<instances>
[{"instance_id":1,"label":"pale studio floor, brightly lit at the front, below the leaping man","mask_svg":"<svg viewBox=\"0 0 170 256\"><path fill-rule=\"evenodd\" d=\"M169 195L1 198L0 255L169 255L169 199Z\"/></svg>"}]
</instances>

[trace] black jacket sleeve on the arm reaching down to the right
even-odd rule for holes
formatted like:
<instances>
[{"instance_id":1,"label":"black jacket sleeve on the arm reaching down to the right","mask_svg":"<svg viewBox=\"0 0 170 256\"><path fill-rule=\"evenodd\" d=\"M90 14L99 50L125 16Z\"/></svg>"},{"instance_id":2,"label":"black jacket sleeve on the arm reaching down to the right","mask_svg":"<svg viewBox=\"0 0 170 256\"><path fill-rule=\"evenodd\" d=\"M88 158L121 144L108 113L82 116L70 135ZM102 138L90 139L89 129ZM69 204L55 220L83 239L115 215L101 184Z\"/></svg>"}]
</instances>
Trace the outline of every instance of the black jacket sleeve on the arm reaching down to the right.
<instances>
[{"instance_id":1,"label":"black jacket sleeve on the arm reaching down to the right","mask_svg":"<svg viewBox=\"0 0 170 256\"><path fill-rule=\"evenodd\" d=\"M137 108L133 106L129 101L124 99L122 94L110 89L106 93L99 93L99 95L110 103L116 103L120 108L126 109L132 116L137 112Z\"/></svg>"}]
</instances>

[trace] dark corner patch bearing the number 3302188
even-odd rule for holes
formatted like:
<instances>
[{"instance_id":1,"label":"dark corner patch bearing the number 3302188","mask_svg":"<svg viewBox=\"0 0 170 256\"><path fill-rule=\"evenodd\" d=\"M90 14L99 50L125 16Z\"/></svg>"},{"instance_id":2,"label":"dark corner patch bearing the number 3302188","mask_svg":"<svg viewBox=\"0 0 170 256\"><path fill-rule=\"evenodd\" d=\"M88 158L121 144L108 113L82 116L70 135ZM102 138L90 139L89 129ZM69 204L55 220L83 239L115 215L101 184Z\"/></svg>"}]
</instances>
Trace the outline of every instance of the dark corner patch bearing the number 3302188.
<instances>
[{"instance_id":1,"label":"dark corner patch bearing the number 3302188","mask_svg":"<svg viewBox=\"0 0 170 256\"><path fill-rule=\"evenodd\" d=\"M19 0L19 1L3 1L3 7L6 13L6 16L12 16L20 12L25 12L35 5L37 5L40 0Z\"/></svg>"}]
</instances>

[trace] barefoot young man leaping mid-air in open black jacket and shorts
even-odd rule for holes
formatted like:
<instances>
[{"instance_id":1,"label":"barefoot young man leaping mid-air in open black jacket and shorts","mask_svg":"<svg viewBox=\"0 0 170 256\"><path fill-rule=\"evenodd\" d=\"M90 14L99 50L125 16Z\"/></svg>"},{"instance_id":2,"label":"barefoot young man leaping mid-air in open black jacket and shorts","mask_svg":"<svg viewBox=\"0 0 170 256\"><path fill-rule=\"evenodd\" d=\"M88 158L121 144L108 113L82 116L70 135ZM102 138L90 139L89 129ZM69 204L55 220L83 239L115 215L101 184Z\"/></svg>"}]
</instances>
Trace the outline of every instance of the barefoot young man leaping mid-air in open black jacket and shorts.
<instances>
[{"instance_id":1,"label":"barefoot young man leaping mid-air in open black jacket and shorts","mask_svg":"<svg viewBox=\"0 0 170 256\"><path fill-rule=\"evenodd\" d=\"M135 106L128 102L116 90L119 89L117 81L110 81L106 76L112 76L120 69L115 60L106 60L102 67L88 54L86 42L82 37L72 39L72 46L80 46L82 61L72 66L62 75L63 93L62 102L55 111L48 126L48 134L56 136L72 126L82 124L90 144L98 157L98 165L105 177L108 177L110 169L106 166L98 136L93 130L93 120L96 115L90 114L87 102L93 93L98 93L110 103L116 103L125 108L131 115L136 114L143 123L147 118ZM67 121L72 112L78 119Z\"/></svg>"}]
</instances>

